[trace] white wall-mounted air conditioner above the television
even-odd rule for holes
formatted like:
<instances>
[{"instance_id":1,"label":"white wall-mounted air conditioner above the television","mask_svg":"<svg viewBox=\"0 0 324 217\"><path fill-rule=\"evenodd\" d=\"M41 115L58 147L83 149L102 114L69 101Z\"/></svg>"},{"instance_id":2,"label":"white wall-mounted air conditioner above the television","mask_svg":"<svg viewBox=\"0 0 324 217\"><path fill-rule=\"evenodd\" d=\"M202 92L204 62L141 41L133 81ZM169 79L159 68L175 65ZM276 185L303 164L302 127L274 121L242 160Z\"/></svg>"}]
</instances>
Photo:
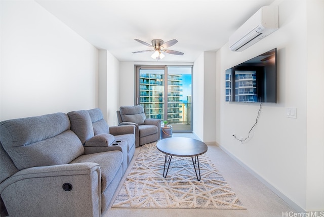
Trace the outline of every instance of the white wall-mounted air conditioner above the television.
<instances>
[{"instance_id":1,"label":"white wall-mounted air conditioner above the television","mask_svg":"<svg viewBox=\"0 0 324 217\"><path fill-rule=\"evenodd\" d=\"M279 28L277 6L264 6L229 37L232 51L243 51Z\"/></svg>"}]
</instances>

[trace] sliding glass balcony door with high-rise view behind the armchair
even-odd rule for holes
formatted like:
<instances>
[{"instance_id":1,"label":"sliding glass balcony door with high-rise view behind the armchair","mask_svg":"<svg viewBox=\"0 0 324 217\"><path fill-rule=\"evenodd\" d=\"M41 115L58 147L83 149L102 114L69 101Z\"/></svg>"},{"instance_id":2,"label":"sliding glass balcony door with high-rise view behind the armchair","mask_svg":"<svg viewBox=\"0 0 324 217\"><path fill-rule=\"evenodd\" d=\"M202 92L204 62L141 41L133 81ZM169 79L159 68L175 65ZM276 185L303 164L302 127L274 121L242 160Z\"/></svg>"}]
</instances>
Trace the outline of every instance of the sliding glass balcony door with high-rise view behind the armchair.
<instances>
[{"instance_id":1,"label":"sliding glass balcony door with high-rise view behind the armchair","mask_svg":"<svg viewBox=\"0 0 324 217\"><path fill-rule=\"evenodd\" d=\"M174 132L192 132L192 67L136 67L136 105L147 118L168 120Z\"/></svg>"}]
</instances>

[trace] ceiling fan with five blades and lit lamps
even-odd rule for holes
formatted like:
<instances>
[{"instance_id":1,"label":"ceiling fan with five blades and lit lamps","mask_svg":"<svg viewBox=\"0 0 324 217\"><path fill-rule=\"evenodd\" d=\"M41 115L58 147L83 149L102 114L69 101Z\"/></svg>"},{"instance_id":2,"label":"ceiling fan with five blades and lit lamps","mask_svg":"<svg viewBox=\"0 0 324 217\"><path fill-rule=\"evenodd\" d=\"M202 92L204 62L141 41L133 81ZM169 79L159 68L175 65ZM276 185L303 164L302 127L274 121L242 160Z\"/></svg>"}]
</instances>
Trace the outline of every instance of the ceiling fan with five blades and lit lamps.
<instances>
[{"instance_id":1,"label":"ceiling fan with five blades and lit lamps","mask_svg":"<svg viewBox=\"0 0 324 217\"><path fill-rule=\"evenodd\" d=\"M153 39L152 40L152 45L150 45L150 44L148 44L148 43L146 43L146 42L144 42L142 40L139 40L139 39L135 39L135 40L140 42L143 45L146 45L146 46L150 47L151 50L136 51L136 52L132 52L133 54L154 51L154 53L152 54L151 57L153 59L156 59L156 60L160 60L160 59L165 57L165 55L163 53L161 53L161 52L165 52L165 53L168 53L168 54L175 54L175 55L183 55L184 54L184 53L182 53L180 51L165 50L166 48L169 48L169 47L175 45L178 42L176 39L172 39L172 40L169 40L167 42L164 42L161 39Z\"/></svg>"}]
</instances>

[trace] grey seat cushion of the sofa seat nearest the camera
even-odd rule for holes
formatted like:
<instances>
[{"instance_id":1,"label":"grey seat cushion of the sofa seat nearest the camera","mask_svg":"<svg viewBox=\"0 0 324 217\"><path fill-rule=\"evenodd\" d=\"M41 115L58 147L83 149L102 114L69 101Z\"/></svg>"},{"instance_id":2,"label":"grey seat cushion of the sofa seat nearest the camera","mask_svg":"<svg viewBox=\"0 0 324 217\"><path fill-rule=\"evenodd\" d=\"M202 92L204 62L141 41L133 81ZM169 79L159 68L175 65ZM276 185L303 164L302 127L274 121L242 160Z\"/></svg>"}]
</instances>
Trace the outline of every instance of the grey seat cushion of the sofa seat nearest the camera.
<instances>
[{"instance_id":1,"label":"grey seat cushion of the sofa seat nearest the camera","mask_svg":"<svg viewBox=\"0 0 324 217\"><path fill-rule=\"evenodd\" d=\"M95 154L85 154L79 156L70 163L98 163L101 170L101 191L104 192L114 179L118 169L123 163L123 153L121 151L107 151Z\"/></svg>"}]
</instances>

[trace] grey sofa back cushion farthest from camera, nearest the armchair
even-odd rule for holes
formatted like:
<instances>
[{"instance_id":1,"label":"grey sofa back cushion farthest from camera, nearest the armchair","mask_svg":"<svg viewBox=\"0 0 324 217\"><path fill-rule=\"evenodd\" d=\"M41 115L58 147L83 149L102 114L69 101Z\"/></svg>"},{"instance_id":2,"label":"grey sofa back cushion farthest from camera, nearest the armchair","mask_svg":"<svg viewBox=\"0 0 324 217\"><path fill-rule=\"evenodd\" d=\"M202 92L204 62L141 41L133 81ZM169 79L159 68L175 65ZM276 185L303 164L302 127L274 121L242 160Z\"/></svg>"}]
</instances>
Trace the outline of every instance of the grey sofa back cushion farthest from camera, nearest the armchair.
<instances>
[{"instance_id":1,"label":"grey sofa back cushion farthest from camera, nearest the armchair","mask_svg":"<svg viewBox=\"0 0 324 217\"><path fill-rule=\"evenodd\" d=\"M94 135L109 134L109 125L103 119L103 114L99 108L87 110L90 115Z\"/></svg>"}]
</instances>

